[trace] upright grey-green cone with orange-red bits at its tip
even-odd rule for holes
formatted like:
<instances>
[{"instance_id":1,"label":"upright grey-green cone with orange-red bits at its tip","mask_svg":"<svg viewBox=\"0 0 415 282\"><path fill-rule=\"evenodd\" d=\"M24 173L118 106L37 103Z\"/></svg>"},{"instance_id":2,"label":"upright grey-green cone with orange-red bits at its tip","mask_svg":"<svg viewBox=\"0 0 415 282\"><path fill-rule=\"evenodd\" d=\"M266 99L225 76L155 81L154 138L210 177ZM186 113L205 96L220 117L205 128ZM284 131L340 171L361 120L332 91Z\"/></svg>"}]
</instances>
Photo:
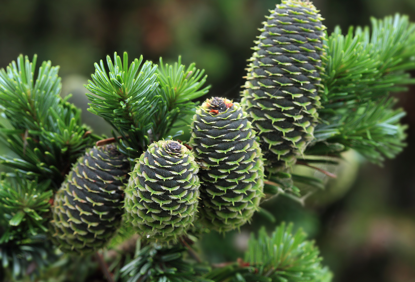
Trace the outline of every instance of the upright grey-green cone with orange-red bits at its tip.
<instances>
[{"instance_id":1,"label":"upright grey-green cone with orange-red bits at its tip","mask_svg":"<svg viewBox=\"0 0 415 282\"><path fill-rule=\"evenodd\" d=\"M199 172L200 214L219 232L234 230L258 209L264 164L247 113L226 98L207 99L193 117L192 137Z\"/></svg>"}]
</instances>

